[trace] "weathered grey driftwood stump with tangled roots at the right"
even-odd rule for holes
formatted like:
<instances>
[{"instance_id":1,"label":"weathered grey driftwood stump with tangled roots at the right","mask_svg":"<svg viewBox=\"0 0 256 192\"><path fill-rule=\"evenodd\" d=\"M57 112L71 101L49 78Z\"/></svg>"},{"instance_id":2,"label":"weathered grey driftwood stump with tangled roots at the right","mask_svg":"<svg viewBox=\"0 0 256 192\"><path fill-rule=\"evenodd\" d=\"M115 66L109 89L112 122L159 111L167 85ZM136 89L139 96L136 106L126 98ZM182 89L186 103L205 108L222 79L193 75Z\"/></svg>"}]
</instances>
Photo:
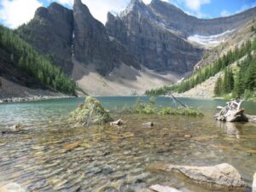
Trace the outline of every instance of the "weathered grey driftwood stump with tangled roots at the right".
<instances>
[{"instance_id":1,"label":"weathered grey driftwood stump with tangled roots at the right","mask_svg":"<svg viewBox=\"0 0 256 192\"><path fill-rule=\"evenodd\" d=\"M241 108L241 102L243 100L235 100L227 102L225 107L218 106L218 109L221 109L221 111L214 118L226 122L248 122L249 119L244 113L245 109Z\"/></svg>"}]
</instances>

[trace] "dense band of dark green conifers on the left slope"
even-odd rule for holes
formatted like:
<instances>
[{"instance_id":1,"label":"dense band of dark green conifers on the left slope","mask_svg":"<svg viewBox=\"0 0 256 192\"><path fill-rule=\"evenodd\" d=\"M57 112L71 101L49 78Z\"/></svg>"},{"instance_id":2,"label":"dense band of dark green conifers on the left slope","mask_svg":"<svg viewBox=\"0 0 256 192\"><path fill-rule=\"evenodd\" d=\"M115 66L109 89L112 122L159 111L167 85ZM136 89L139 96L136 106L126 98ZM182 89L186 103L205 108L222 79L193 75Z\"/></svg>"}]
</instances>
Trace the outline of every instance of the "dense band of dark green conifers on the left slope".
<instances>
[{"instance_id":1,"label":"dense band of dark green conifers on the left slope","mask_svg":"<svg viewBox=\"0 0 256 192\"><path fill-rule=\"evenodd\" d=\"M0 26L0 47L10 54L10 61L39 82L54 90L75 94L74 81L55 67L49 59L40 55L30 44L19 38L12 30Z\"/></svg>"}]
</instances>

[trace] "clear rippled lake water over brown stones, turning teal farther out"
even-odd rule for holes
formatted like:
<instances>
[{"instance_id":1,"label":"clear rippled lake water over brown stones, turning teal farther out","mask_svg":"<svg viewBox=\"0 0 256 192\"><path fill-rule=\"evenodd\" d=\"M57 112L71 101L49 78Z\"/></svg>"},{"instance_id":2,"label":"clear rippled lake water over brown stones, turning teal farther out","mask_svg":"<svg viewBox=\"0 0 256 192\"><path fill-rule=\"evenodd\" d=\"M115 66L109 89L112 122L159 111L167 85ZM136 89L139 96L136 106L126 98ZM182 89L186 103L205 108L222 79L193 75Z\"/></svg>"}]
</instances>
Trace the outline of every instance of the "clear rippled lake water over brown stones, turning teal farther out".
<instances>
[{"instance_id":1,"label":"clear rippled lake water over brown stones, turning teal farther out","mask_svg":"<svg viewBox=\"0 0 256 192\"><path fill-rule=\"evenodd\" d=\"M137 97L99 97L106 108L134 104ZM147 100L147 97L141 97ZM206 113L203 118L183 116L118 115L121 128L72 128L68 113L84 99L62 99L0 105L0 129L22 123L26 131L0 137L0 183L16 182L27 191L139 191L156 183L184 191L212 191L183 177L150 172L162 163L212 166L227 162L251 185L256 171L256 127L218 124L212 119L224 101L182 99ZM162 106L172 100L159 97ZM245 102L247 113L256 103ZM152 129L142 123L152 121ZM185 138L184 135L192 135ZM67 151L65 144L79 142ZM250 191L250 189L248 189Z\"/></svg>"}]
</instances>

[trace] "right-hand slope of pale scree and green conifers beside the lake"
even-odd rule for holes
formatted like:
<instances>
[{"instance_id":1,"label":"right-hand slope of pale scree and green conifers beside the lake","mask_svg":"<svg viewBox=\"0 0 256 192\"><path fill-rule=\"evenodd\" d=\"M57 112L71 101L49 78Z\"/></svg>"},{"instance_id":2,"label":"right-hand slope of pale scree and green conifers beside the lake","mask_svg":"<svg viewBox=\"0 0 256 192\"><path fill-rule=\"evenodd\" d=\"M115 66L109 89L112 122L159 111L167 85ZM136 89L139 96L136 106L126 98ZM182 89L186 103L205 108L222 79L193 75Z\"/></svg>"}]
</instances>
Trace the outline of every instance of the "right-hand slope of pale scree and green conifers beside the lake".
<instances>
[{"instance_id":1,"label":"right-hand slope of pale scree and green conifers beside the lake","mask_svg":"<svg viewBox=\"0 0 256 192\"><path fill-rule=\"evenodd\" d=\"M212 98L224 96L255 101L256 18L247 21L218 46L208 49L187 78L171 86L147 90L148 95Z\"/></svg>"}]
</instances>

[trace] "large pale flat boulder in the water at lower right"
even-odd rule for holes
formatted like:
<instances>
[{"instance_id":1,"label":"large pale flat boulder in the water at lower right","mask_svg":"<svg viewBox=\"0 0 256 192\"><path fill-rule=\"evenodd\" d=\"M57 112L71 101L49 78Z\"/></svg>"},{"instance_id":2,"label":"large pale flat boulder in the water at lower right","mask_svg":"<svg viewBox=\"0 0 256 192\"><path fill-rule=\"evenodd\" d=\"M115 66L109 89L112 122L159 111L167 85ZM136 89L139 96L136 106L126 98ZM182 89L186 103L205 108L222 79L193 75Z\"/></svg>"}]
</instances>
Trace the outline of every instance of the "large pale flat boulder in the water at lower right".
<instances>
[{"instance_id":1,"label":"large pale flat boulder in the water at lower right","mask_svg":"<svg viewBox=\"0 0 256 192\"><path fill-rule=\"evenodd\" d=\"M161 170L170 172L177 170L198 183L214 183L231 188L243 188L245 183L240 173L230 164L223 163L217 166L161 166Z\"/></svg>"}]
</instances>

